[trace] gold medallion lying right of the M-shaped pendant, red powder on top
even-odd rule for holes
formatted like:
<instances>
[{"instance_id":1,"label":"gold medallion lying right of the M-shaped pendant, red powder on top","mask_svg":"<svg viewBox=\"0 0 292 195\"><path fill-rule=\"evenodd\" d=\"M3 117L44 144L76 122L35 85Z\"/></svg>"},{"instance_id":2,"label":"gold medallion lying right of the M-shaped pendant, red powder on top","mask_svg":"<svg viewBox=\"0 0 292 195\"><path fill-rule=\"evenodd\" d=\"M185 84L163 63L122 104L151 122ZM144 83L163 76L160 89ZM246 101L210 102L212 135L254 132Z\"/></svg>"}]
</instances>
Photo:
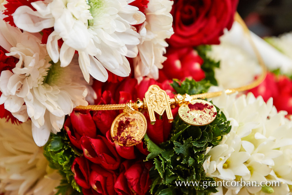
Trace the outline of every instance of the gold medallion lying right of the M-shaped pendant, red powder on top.
<instances>
[{"instance_id":1,"label":"gold medallion lying right of the M-shaped pendant, red powder on top","mask_svg":"<svg viewBox=\"0 0 292 195\"><path fill-rule=\"evenodd\" d=\"M194 99L190 103L183 103L178 109L178 114L189 125L203 126L215 120L217 110L206 100Z\"/></svg>"}]
</instances>

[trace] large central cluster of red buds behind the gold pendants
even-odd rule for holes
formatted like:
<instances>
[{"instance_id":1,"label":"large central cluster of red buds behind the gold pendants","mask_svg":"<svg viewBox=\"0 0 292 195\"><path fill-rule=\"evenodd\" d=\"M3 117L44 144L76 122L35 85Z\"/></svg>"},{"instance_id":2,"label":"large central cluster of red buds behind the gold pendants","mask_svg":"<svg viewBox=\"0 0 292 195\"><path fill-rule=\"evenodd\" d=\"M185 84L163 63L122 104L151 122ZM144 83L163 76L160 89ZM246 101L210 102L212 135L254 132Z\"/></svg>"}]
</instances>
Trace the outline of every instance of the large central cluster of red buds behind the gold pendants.
<instances>
[{"instance_id":1,"label":"large central cluster of red buds behind the gold pendants","mask_svg":"<svg viewBox=\"0 0 292 195\"><path fill-rule=\"evenodd\" d=\"M142 99L148 87L159 85L173 97L173 89L168 81L158 83L146 78L140 84L136 79L126 78L120 84L95 81L93 87L98 94L96 104L125 103ZM149 153L144 143L123 147L114 143L110 127L119 111L75 112L65 121L64 128L71 143L84 156L74 160L72 172L77 184L87 194L146 194L151 181L149 170L152 162L143 162ZM148 118L147 113L144 113ZM173 109L177 115L177 109ZM150 121L149 119L147 120ZM159 144L168 139L172 124L166 116L157 119L155 125L148 124L147 134Z\"/></svg>"}]
</instances>

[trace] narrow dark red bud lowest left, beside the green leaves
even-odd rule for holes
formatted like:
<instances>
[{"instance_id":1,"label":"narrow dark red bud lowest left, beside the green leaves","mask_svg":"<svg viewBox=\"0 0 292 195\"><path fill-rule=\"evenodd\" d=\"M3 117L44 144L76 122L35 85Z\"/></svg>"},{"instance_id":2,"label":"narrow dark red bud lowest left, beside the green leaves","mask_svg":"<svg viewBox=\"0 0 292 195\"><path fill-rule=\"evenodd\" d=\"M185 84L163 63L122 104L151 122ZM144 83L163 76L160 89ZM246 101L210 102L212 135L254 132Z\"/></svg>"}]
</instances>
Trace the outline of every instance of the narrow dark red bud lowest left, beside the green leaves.
<instances>
[{"instance_id":1,"label":"narrow dark red bud lowest left, beside the green leaves","mask_svg":"<svg viewBox=\"0 0 292 195\"><path fill-rule=\"evenodd\" d=\"M71 170L74 173L74 179L79 186L85 189L91 187L89 184L89 165L86 158L83 156L75 158Z\"/></svg>"}]
</instances>

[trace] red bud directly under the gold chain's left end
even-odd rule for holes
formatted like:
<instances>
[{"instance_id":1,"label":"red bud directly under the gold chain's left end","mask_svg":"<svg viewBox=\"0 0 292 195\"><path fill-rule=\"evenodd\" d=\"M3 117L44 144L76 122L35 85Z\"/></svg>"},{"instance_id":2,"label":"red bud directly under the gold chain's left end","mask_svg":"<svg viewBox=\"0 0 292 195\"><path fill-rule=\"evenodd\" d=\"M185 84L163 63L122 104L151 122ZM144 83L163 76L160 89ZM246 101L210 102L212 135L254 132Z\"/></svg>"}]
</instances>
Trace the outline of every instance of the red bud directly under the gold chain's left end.
<instances>
[{"instance_id":1,"label":"red bud directly under the gold chain's left end","mask_svg":"<svg viewBox=\"0 0 292 195\"><path fill-rule=\"evenodd\" d=\"M73 111L65 121L64 128L71 143L79 149L81 149L82 136L96 137L95 123L89 111L85 111L85 114Z\"/></svg>"}]
</instances>

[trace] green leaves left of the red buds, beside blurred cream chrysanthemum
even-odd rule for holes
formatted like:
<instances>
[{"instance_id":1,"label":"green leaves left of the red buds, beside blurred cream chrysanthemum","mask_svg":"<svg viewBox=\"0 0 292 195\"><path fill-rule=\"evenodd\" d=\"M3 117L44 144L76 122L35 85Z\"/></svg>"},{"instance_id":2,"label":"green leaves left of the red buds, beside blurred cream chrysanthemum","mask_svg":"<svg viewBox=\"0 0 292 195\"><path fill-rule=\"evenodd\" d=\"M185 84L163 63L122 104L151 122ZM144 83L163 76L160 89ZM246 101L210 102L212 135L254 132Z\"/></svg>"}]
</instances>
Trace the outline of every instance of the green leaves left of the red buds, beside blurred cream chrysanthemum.
<instances>
[{"instance_id":1,"label":"green leaves left of the red buds, beside blurred cream chrysanthemum","mask_svg":"<svg viewBox=\"0 0 292 195\"><path fill-rule=\"evenodd\" d=\"M75 151L65 135L65 130L57 134L51 134L50 139L44 146L44 156L49 161L49 166L59 170L63 179L56 195L80 195L81 187L75 182L71 166L79 153Z\"/></svg>"}]
</instances>

